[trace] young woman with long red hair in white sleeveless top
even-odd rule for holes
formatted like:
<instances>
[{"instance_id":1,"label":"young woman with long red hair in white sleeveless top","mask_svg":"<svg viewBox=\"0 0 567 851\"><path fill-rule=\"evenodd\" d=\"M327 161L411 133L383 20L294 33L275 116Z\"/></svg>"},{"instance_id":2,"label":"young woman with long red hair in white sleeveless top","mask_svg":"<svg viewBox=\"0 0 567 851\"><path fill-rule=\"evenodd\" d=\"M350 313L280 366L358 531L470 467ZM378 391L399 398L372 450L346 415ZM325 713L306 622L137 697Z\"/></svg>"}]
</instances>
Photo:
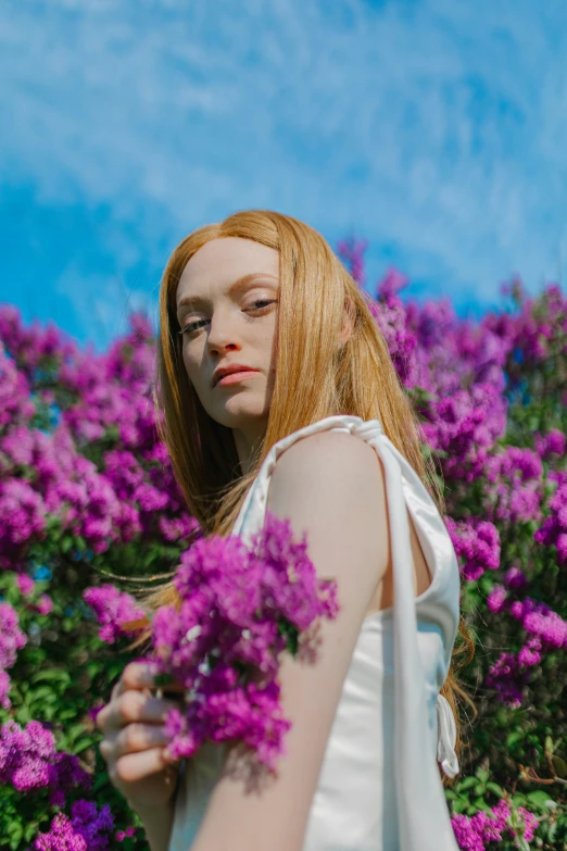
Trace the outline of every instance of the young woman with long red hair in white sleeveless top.
<instances>
[{"instance_id":1,"label":"young woman with long red hair in white sleeveless top","mask_svg":"<svg viewBox=\"0 0 567 851\"><path fill-rule=\"evenodd\" d=\"M174 250L158 353L163 438L205 534L248 542L266 510L288 518L341 610L315 664L282 663L293 726L260 793L226 744L168 763L175 696L126 667L101 753L152 851L454 851L442 774L467 697L457 633L471 641L434 467L367 297L313 228L238 212ZM147 600L175 601L171 584Z\"/></svg>"}]
</instances>

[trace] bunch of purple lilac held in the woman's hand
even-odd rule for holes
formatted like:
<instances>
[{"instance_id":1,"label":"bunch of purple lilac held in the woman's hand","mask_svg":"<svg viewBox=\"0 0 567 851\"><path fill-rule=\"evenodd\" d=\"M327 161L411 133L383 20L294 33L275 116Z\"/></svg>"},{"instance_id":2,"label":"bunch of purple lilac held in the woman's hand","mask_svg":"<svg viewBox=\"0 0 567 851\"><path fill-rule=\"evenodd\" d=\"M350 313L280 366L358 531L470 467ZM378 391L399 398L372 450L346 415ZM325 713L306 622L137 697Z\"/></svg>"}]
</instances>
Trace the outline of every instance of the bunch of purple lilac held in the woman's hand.
<instances>
[{"instance_id":1,"label":"bunch of purple lilac held in the woman's hand","mask_svg":"<svg viewBox=\"0 0 567 851\"><path fill-rule=\"evenodd\" d=\"M318 579L305 537L269 513L248 549L238 537L198 540L174 578L179 611L160 609L152 635L158 669L186 689L173 710L168 751L190 756L205 739L240 740L275 768L290 723L281 715L280 655L301 659L320 617L338 613L336 583Z\"/></svg>"}]
</instances>

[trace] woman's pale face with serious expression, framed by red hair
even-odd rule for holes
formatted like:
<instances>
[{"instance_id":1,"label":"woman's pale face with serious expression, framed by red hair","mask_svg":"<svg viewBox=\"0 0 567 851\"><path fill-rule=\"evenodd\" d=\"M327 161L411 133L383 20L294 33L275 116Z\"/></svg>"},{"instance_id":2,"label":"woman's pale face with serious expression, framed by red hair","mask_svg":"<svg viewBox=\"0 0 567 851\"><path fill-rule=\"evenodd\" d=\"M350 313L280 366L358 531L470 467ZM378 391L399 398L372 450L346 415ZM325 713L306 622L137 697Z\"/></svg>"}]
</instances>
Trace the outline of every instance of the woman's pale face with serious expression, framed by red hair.
<instances>
[{"instance_id":1,"label":"woman's pale face with serious expression, framed by red hair","mask_svg":"<svg viewBox=\"0 0 567 851\"><path fill-rule=\"evenodd\" d=\"M237 449L263 435L276 368L279 252L251 239L213 239L187 263L177 318L189 380L206 413L235 429ZM240 364L252 372L217 380Z\"/></svg>"}]
</instances>

